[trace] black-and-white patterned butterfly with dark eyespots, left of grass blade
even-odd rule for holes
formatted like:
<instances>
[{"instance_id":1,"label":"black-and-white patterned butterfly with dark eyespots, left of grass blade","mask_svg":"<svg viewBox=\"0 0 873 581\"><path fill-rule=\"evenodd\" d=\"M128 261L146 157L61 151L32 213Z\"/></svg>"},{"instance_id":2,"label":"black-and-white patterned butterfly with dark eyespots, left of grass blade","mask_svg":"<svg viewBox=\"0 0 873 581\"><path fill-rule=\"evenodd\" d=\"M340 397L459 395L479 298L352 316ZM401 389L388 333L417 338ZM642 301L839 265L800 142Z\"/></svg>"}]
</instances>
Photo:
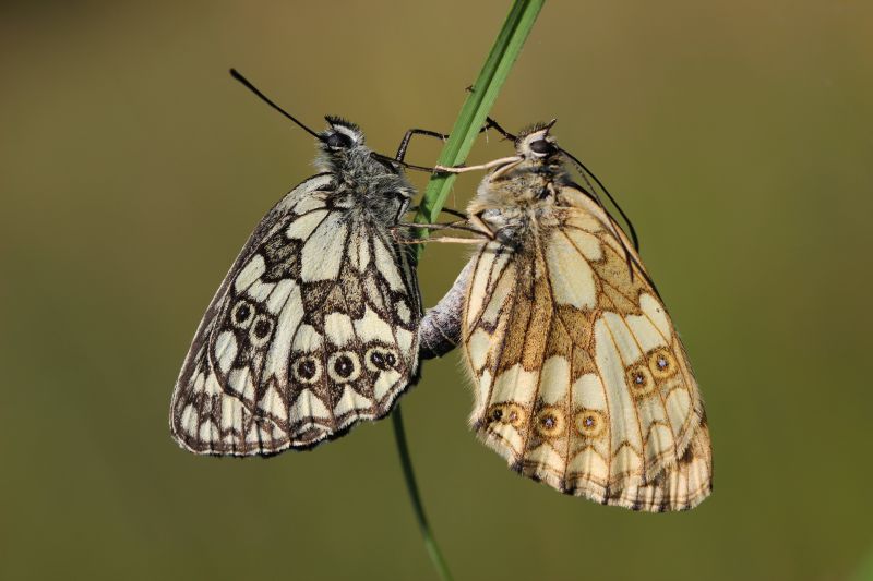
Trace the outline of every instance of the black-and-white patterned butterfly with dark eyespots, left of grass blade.
<instances>
[{"instance_id":1,"label":"black-and-white patterned butterfly with dark eyespots, left of grass blade","mask_svg":"<svg viewBox=\"0 0 873 581\"><path fill-rule=\"evenodd\" d=\"M416 257L392 230L415 192L358 125L327 117L315 133L231 74L318 140L321 171L230 267L176 383L170 431L192 452L267 456L381 419L415 384Z\"/></svg>"}]
</instances>

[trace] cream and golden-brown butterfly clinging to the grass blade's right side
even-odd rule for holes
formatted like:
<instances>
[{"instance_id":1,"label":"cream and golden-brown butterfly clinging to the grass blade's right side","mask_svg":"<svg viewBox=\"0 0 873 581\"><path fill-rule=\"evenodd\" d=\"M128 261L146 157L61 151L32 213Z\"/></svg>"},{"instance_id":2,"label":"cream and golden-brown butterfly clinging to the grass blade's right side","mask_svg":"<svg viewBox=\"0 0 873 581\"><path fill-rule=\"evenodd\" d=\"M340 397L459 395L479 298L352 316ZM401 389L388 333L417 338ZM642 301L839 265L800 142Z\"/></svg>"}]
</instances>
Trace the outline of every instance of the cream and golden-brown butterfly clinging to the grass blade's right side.
<instances>
[{"instance_id":1,"label":"cream and golden-brown butterfly clinging to the grass blade's right side","mask_svg":"<svg viewBox=\"0 0 873 581\"><path fill-rule=\"evenodd\" d=\"M464 239L478 250L422 319L421 358L463 344L470 423L513 470L607 505L696 506L711 491L703 401L635 243L573 183L564 161L587 168L551 123L492 126L514 156L443 168L492 171L463 225L483 240Z\"/></svg>"}]
</instances>

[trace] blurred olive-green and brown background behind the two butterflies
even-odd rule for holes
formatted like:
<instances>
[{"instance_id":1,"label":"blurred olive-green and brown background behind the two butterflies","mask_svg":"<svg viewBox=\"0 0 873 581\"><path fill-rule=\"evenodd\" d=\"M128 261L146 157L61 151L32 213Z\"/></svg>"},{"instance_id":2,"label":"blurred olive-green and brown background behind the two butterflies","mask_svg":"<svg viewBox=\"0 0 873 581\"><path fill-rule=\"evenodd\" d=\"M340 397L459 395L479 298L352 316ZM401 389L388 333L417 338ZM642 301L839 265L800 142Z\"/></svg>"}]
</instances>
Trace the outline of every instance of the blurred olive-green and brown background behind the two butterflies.
<instances>
[{"instance_id":1,"label":"blurred olive-green and brown background behind the two butterflies","mask_svg":"<svg viewBox=\"0 0 873 581\"><path fill-rule=\"evenodd\" d=\"M167 428L201 314L339 113L447 131L507 1L0 5L0 577L435 579L390 422L198 458ZM715 493L561 496L466 426L455 355L404 399L457 579L847 579L873 545L869 2L547 3L493 114L554 133L634 218L698 375ZM473 160L506 155L495 135ZM439 144L414 142L432 164ZM463 207L479 175L461 179ZM414 175L423 184L424 177ZM426 304L465 259L429 247Z\"/></svg>"}]
</instances>

